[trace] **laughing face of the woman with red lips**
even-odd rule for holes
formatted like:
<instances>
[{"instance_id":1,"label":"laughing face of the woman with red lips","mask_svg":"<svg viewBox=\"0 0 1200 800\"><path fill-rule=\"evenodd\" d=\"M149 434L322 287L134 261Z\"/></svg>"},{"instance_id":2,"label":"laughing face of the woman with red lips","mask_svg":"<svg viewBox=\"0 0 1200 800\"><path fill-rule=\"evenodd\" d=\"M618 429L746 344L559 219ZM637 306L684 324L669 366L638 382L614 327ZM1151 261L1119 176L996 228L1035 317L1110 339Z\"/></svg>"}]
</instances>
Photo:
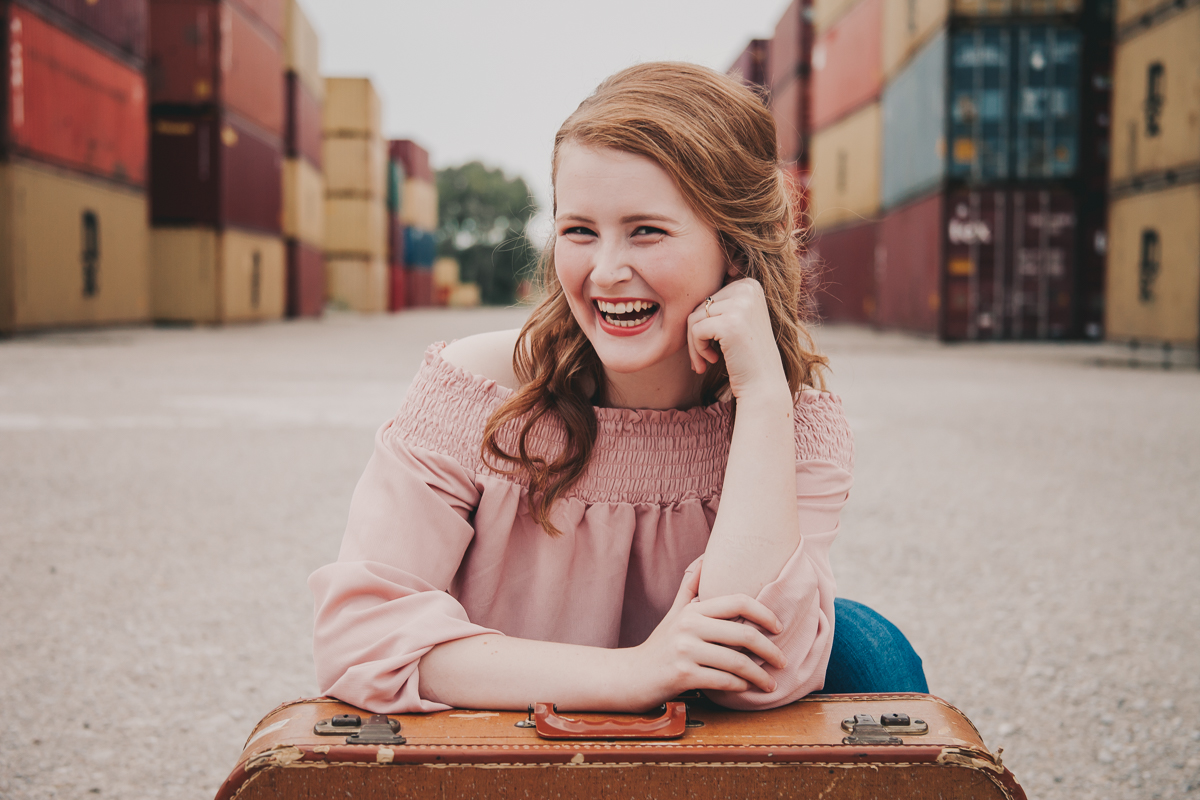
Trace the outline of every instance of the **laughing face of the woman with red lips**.
<instances>
[{"instance_id":1,"label":"laughing face of the woman with red lips","mask_svg":"<svg viewBox=\"0 0 1200 800\"><path fill-rule=\"evenodd\" d=\"M619 150L564 144L554 196L558 279L617 389L638 373L696 385L688 315L730 272L716 231L666 170Z\"/></svg>"}]
</instances>

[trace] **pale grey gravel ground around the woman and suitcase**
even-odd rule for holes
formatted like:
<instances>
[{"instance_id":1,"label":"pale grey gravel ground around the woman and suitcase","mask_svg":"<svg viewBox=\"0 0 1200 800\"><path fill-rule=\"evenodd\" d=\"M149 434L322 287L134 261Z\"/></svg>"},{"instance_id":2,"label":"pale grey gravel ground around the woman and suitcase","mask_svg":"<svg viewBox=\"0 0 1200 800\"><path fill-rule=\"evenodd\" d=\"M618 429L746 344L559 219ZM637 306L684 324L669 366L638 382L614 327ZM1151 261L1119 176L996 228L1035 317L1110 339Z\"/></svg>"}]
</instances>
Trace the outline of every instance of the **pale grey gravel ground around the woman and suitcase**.
<instances>
[{"instance_id":1,"label":"pale grey gravel ground around the woman and suitcase","mask_svg":"<svg viewBox=\"0 0 1200 800\"><path fill-rule=\"evenodd\" d=\"M517 311L0 342L0 798L211 798L426 343ZM1200 373L827 329L840 594L1031 798L1200 798ZM1120 355L1120 354L1117 354Z\"/></svg>"}]
</instances>

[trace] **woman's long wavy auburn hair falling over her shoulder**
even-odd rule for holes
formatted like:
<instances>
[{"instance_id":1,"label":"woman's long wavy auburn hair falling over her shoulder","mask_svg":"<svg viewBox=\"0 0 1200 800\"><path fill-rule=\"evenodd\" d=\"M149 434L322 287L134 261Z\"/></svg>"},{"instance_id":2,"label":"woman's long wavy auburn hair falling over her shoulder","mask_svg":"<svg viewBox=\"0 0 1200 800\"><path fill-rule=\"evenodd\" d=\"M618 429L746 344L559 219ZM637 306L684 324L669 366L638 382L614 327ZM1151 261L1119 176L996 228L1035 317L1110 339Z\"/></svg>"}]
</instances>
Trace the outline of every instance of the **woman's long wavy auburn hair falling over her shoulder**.
<instances>
[{"instance_id":1,"label":"woman's long wavy auburn hair falling over her shoulder","mask_svg":"<svg viewBox=\"0 0 1200 800\"><path fill-rule=\"evenodd\" d=\"M554 137L552 179L566 143L643 156L665 169L692 210L716 230L738 277L762 285L792 393L823 387L827 361L800 318L811 296L798 255L802 231L793 186L776 157L775 122L757 95L706 67L642 64L605 80L563 122ZM604 366L558 281L553 235L539 272L545 299L521 329L512 353L521 389L487 421L481 451L492 469L524 473L533 518L557 536L551 506L587 468L596 440L593 405L605 404L607 391ZM704 372L702 402L716 402L728 384L721 359ZM565 429L562 452L530 452L530 431L556 417ZM520 425L516 453L499 444L509 425Z\"/></svg>"}]
</instances>

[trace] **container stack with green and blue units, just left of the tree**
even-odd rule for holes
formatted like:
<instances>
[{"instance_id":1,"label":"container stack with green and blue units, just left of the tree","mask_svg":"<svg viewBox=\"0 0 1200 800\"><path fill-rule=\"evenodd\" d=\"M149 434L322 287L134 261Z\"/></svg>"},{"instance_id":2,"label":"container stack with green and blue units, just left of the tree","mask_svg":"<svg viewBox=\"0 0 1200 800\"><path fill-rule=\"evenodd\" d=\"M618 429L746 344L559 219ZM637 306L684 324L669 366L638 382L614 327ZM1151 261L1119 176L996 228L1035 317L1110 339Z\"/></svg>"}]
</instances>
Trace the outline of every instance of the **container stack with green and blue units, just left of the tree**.
<instances>
[{"instance_id":1,"label":"container stack with green and blue units, just left of the tree","mask_svg":"<svg viewBox=\"0 0 1200 800\"><path fill-rule=\"evenodd\" d=\"M438 187L430 154L409 139L391 142L392 157L403 164L400 222L404 237L404 284L407 305L413 308L434 305L433 261L437 258Z\"/></svg>"}]
</instances>

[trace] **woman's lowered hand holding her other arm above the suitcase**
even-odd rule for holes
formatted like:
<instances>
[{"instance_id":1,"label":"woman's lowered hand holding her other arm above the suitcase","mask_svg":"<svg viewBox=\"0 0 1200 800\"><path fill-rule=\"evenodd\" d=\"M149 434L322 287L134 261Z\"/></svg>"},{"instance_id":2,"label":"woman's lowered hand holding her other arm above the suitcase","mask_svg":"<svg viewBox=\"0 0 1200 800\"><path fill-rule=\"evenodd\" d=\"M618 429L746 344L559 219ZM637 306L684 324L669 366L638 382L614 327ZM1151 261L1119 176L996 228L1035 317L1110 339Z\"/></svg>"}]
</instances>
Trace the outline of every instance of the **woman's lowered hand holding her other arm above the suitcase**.
<instances>
[{"instance_id":1,"label":"woman's lowered hand holding her other arm above the suitcase","mask_svg":"<svg viewBox=\"0 0 1200 800\"><path fill-rule=\"evenodd\" d=\"M761 631L734 621L740 618L779 633L782 627L769 608L748 595L694 602L698 590L697 569L684 576L674 604L649 638L629 650L628 675L646 708L694 688L770 692L775 680L751 656L776 668L787 663Z\"/></svg>"}]
</instances>

